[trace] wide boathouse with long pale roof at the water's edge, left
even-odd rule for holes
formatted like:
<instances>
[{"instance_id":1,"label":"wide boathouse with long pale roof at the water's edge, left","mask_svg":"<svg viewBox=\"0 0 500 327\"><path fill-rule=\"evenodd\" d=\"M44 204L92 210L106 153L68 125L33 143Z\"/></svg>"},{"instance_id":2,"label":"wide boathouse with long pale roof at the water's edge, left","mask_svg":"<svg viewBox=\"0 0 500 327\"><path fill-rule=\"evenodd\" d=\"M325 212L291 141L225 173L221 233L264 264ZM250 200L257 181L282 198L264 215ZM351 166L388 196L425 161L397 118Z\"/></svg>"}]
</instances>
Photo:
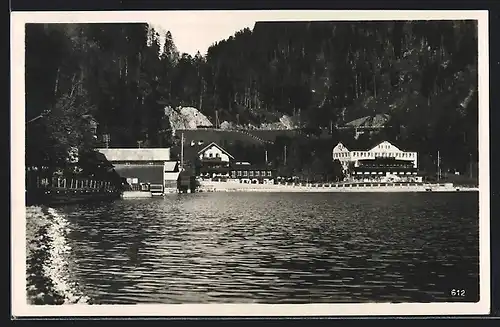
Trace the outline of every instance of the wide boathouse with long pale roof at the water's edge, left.
<instances>
[{"instance_id":1,"label":"wide boathouse with long pale roof at the water's edge, left","mask_svg":"<svg viewBox=\"0 0 500 327\"><path fill-rule=\"evenodd\" d=\"M170 160L170 148L105 148L99 152L134 190L177 188L179 163Z\"/></svg>"}]
</instances>

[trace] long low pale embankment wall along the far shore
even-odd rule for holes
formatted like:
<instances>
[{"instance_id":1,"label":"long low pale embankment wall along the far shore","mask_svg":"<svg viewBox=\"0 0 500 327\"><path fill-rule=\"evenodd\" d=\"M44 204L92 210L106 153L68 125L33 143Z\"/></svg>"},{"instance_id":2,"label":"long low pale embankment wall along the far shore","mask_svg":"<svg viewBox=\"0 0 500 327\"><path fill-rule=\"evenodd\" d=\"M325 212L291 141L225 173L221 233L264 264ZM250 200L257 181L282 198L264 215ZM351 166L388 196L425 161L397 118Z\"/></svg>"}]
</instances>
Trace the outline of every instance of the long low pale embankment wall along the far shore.
<instances>
[{"instance_id":1,"label":"long low pale embankment wall along the far shore","mask_svg":"<svg viewBox=\"0 0 500 327\"><path fill-rule=\"evenodd\" d=\"M477 192L478 187L457 186L453 183L283 183L247 184L233 181L203 181L197 192Z\"/></svg>"}]
</instances>

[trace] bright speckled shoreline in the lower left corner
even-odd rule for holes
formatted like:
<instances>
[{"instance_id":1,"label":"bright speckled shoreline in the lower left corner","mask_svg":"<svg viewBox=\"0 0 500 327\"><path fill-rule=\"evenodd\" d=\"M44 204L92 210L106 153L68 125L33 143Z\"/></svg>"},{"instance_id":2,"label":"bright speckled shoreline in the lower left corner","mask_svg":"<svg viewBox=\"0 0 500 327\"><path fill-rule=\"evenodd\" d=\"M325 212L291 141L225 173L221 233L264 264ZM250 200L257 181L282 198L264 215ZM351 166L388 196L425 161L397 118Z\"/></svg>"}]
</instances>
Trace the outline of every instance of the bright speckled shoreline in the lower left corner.
<instances>
[{"instance_id":1,"label":"bright speckled shoreline in the lower left corner","mask_svg":"<svg viewBox=\"0 0 500 327\"><path fill-rule=\"evenodd\" d=\"M67 267L68 232L64 216L53 208L26 208L26 291L29 304L90 304L71 280Z\"/></svg>"}]
</instances>

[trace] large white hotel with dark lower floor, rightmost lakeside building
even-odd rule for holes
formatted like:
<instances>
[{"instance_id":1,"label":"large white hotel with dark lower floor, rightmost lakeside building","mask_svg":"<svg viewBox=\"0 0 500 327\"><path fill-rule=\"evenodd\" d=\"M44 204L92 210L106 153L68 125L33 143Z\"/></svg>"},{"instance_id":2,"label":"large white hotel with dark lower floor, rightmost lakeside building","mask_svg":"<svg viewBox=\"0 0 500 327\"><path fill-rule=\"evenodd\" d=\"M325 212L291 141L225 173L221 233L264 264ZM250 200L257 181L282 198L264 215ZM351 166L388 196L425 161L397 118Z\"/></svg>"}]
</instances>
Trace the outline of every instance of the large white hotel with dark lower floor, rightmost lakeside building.
<instances>
[{"instance_id":1,"label":"large white hotel with dark lower floor, rightmost lakeside building","mask_svg":"<svg viewBox=\"0 0 500 327\"><path fill-rule=\"evenodd\" d=\"M416 152L402 151L384 141L369 150L349 150L342 143L332 152L333 160L339 160L344 173L352 180L421 181L417 176Z\"/></svg>"}]
</instances>

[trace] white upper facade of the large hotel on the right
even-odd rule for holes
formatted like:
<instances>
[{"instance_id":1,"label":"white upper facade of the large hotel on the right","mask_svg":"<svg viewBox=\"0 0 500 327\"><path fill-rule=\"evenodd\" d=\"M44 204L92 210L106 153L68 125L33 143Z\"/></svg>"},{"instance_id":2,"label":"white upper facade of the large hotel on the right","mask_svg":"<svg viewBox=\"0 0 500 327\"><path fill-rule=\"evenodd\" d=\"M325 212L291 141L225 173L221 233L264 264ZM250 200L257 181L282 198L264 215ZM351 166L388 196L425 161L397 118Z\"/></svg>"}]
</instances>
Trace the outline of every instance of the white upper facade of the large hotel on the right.
<instances>
[{"instance_id":1,"label":"white upper facade of the large hotel on the right","mask_svg":"<svg viewBox=\"0 0 500 327\"><path fill-rule=\"evenodd\" d=\"M405 160L413 163L413 167L418 167L418 158L416 152L405 152L398 149L391 143L384 141L367 151L349 151L342 143L337 144L332 151L333 160L339 160L344 169L347 169L350 162L355 167L359 167L359 160L382 158L395 158L396 160Z\"/></svg>"}]
</instances>

